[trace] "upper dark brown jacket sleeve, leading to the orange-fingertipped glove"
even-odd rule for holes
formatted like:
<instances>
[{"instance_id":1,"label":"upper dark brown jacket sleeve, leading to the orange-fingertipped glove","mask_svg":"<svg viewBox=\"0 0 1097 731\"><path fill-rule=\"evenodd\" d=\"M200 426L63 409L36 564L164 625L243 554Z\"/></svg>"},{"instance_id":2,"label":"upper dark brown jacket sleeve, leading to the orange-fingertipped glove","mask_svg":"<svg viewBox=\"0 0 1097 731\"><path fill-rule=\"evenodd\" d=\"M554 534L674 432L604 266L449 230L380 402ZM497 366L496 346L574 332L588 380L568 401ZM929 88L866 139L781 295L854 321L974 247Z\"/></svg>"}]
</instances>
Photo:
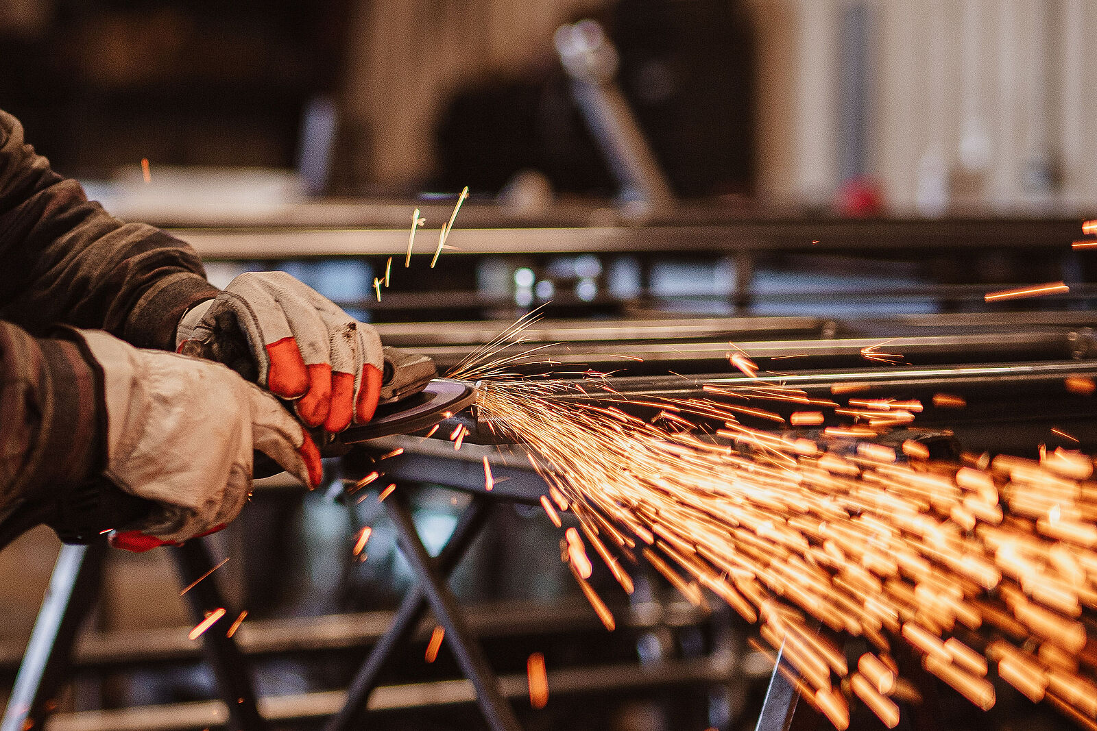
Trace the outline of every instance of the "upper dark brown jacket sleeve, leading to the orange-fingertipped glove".
<instances>
[{"instance_id":1,"label":"upper dark brown jacket sleeve, leading to the orange-fingertipped glove","mask_svg":"<svg viewBox=\"0 0 1097 731\"><path fill-rule=\"evenodd\" d=\"M66 323L173 350L183 312L217 292L186 243L89 202L0 111L0 319L34 334Z\"/></svg>"}]
</instances>

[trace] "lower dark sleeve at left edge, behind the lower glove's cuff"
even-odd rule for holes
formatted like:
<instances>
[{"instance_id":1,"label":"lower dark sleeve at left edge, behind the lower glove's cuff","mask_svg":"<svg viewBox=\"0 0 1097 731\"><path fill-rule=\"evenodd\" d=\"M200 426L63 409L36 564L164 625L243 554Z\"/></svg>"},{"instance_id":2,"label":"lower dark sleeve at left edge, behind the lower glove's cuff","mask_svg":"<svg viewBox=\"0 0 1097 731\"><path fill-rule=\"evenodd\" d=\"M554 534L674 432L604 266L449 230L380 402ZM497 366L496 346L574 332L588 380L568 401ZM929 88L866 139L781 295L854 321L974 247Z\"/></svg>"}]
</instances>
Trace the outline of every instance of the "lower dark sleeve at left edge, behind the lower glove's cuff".
<instances>
[{"instance_id":1,"label":"lower dark sleeve at left edge, behind the lower glove's cuff","mask_svg":"<svg viewBox=\"0 0 1097 731\"><path fill-rule=\"evenodd\" d=\"M0 321L0 517L103 469L103 381L82 344Z\"/></svg>"}]
</instances>

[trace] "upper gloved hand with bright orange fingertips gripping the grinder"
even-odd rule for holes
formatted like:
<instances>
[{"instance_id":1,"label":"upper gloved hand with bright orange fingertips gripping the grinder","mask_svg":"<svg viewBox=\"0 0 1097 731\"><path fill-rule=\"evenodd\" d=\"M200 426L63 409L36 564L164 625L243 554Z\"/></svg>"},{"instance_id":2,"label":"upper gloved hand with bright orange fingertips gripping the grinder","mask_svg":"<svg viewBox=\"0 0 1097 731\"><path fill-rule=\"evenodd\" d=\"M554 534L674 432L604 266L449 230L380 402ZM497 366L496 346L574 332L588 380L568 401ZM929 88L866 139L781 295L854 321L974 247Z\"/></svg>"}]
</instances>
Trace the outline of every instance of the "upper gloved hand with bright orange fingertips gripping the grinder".
<instances>
[{"instance_id":1,"label":"upper gloved hand with bright orange fingertips gripping the grinder","mask_svg":"<svg viewBox=\"0 0 1097 731\"><path fill-rule=\"evenodd\" d=\"M373 416L384 359L377 331L285 272L249 272L192 307L180 353L224 363L284 399L308 426L340 432Z\"/></svg>"}]
</instances>

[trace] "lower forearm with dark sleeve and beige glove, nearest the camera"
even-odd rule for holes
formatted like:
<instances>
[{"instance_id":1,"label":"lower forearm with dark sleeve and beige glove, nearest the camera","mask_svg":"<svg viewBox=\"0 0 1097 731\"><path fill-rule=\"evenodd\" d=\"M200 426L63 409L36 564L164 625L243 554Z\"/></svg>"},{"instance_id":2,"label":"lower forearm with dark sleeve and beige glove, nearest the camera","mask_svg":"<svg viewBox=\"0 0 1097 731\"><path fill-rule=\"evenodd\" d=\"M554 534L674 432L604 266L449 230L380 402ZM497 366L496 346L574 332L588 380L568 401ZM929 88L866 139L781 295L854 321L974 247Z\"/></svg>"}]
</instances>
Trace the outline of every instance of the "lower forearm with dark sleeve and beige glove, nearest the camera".
<instances>
[{"instance_id":1,"label":"lower forearm with dark sleeve and beige glove, nearest the camera","mask_svg":"<svg viewBox=\"0 0 1097 731\"><path fill-rule=\"evenodd\" d=\"M270 393L227 367L145 350L97 330L35 339L0 321L0 519L104 476L155 509L125 548L223 527L262 452L310 488L319 452ZM48 521L47 521L48 522Z\"/></svg>"}]
</instances>

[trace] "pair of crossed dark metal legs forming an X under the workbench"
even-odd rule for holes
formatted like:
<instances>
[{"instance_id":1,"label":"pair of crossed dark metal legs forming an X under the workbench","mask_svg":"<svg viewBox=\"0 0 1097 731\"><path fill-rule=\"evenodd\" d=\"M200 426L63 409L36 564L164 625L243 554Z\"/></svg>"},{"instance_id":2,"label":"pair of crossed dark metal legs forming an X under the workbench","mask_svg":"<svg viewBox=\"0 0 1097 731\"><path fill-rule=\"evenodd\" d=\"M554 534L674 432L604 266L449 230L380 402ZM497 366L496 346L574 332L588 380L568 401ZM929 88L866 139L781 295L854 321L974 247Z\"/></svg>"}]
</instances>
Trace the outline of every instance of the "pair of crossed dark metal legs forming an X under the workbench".
<instances>
[{"instance_id":1,"label":"pair of crossed dark metal legs forming an X under the workbench","mask_svg":"<svg viewBox=\"0 0 1097 731\"><path fill-rule=\"evenodd\" d=\"M491 501L484 496L473 498L472 504L462 514L450 539L434 559L431 559L423 548L407 506L398 499L389 499L384 504L396 526L400 547L416 574L417 583L404 597L388 631L374 646L352 681L342 710L328 721L325 731L358 728L365 713L370 693L377 684L385 661L396 648L410 638L428 606L434 610L434 616L445 628L445 640L465 676L476 688L476 697L488 724L496 731L518 731L520 728L518 720L506 698L499 693L495 674L483 656L479 646L470 635L453 594L445 586L449 575L483 527Z\"/></svg>"}]
</instances>

